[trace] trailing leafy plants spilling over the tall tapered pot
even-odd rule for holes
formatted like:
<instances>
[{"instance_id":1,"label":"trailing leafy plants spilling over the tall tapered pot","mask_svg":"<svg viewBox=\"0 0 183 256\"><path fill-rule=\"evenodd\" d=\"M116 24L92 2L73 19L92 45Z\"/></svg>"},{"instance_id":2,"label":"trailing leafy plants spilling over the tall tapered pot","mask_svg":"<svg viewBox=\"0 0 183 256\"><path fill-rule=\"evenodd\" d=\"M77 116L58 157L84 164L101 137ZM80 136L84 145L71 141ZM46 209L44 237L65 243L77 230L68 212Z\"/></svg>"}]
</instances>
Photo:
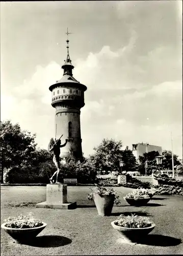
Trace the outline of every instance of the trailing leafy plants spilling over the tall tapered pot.
<instances>
[{"instance_id":1,"label":"trailing leafy plants spilling over the tall tapered pot","mask_svg":"<svg viewBox=\"0 0 183 256\"><path fill-rule=\"evenodd\" d=\"M98 194L101 197L114 195L115 197L114 203L117 205L120 203L119 196L116 190L114 190L114 188L105 188L103 186L99 186L98 184L95 184L95 188L90 188L90 193L88 194L88 200L93 200L93 194Z\"/></svg>"}]
</instances>

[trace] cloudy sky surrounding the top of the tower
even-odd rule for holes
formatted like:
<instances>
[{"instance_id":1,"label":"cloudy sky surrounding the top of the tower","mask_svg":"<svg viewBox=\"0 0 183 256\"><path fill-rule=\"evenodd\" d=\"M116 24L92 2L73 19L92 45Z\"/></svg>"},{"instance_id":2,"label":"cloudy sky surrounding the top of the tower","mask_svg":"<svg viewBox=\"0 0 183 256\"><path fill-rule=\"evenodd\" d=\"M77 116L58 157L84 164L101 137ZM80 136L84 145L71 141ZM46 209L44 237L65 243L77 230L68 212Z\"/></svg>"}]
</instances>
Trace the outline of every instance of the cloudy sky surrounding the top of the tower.
<instances>
[{"instance_id":1,"label":"cloudy sky surrounding the top of the tower","mask_svg":"<svg viewBox=\"0 0 183 256\"><path fill-rule=\"evenodd\" d=\"M49 86L63 75L87 86L84 156L103 138L148 142L182 158L182 2L1 2L1 120L55 136Z\"/></svg>"}]
</instances>

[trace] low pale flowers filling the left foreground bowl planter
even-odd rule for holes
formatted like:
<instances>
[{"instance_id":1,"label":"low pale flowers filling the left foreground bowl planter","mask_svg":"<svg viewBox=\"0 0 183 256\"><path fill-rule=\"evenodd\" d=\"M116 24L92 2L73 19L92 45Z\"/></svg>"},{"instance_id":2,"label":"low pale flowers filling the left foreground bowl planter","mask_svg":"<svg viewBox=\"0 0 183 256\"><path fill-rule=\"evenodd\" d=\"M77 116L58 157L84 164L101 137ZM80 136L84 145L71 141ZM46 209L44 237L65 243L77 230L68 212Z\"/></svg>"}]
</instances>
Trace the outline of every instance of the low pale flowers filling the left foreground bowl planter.
<instances>
[{"instance_id":1,"label":"low pale flowers filling the left foreground bowl planter","mask_svg":"<svg viewBox=\"0 0 183 256\"><path fill-rule=\"evenodd\" d=\"M43 225L42 221L36 220L31 213L28 216L9 217L5 222L5 226L11 228L32 228Z\"/></svg>"}]
</instances>

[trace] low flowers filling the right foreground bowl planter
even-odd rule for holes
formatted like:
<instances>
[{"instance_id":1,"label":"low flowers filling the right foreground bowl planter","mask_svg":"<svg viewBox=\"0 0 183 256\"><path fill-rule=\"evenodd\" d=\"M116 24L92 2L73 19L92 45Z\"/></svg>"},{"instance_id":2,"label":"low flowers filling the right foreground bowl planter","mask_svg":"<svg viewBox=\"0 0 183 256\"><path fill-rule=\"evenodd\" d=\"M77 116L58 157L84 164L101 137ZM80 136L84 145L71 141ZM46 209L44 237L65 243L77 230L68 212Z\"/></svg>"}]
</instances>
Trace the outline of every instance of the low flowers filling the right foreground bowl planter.
<instances>
[{"instance_id":1,"label":"low flowers filling the right foreground bowl planter","mask_svg":"<svg viewBox=\"0 0 183 256\"><path fill-rule=\"evenodd\" d=\"M127 228L144 228L150 227L153 222L151 222L148 217L132 214L131 216L120 215L115 224Z\"/></svg>"}]
</instances>

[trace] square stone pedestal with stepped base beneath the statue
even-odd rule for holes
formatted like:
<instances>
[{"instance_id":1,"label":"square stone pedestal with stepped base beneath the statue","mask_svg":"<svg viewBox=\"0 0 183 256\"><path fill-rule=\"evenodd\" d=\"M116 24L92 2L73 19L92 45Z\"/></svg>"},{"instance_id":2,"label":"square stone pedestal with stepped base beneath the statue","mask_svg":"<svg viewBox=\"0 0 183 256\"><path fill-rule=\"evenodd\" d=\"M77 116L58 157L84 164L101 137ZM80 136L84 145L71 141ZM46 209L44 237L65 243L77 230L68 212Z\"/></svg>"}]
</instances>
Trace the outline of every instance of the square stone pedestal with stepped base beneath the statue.
<instances>
[{"instance_id":1,"label":"square stone pedestal with stepped base beneath the statue","mask_svg":"<svg viewBox=\"0 0 183 256\"><path fill-rule=\"evenodd\" d=\"M76 202L67 202L67 184L47 184L46 201L36 204L40 208L75 209Z\"/></svg>"}]
</instances>

